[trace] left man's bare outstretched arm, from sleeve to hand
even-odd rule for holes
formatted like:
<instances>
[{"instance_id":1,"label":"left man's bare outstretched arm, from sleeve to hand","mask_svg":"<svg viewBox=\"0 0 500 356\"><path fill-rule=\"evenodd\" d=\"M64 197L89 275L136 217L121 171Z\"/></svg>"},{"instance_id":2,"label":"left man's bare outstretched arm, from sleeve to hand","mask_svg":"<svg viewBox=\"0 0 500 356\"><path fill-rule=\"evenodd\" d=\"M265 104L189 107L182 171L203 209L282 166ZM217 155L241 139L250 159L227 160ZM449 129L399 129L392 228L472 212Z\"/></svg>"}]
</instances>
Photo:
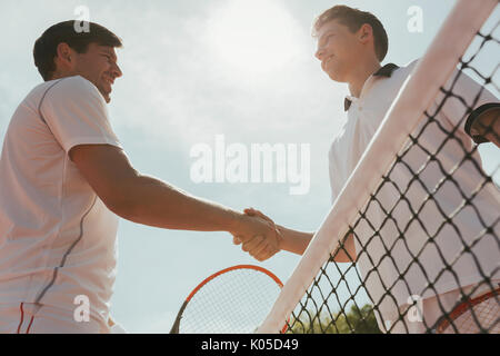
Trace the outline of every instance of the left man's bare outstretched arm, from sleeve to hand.
<instances>
[{"instance_id":1,"label":"left man's bare outstretched arm, from sleeve to hand","mask_svg":"<svg viewBox=\"0 0 500 356\"><path fill-rule=\"evenodd\" d=\"M82 145L72 148L69 155L108 208L124 219L168 229L278 238L269 221L251 219L139 174L118 147Z\"/></svg>"}]
</instances>

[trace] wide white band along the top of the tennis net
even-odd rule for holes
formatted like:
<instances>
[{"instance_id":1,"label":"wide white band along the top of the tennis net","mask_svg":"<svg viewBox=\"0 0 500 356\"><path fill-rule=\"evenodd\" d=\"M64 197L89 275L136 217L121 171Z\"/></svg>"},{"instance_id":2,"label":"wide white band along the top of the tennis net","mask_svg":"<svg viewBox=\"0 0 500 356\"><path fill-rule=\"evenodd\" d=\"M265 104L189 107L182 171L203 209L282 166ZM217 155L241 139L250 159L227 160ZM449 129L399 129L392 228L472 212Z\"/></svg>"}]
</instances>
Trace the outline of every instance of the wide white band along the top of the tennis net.
<instances>
[{"instance_id":1,"label":"wide white band along the top of the tennis net","mask_svg":"<svg viewBox=\"0 0 500 356\"><path fill-rule=\"evenodd\" d=\"M279 333L299 304L321 266L336 251L349 222L380 184L396 155L417 128L423 112L451 77L460 58L472 42L498 0L459 0L442 24L424 57L402 86L397 99L337 197L327 217L284 284L271 312L258 329L259 334ZM400 118L404 117L404 120ZM370 179L363 172L371 172Z\"/></svg>"}]
</instances>

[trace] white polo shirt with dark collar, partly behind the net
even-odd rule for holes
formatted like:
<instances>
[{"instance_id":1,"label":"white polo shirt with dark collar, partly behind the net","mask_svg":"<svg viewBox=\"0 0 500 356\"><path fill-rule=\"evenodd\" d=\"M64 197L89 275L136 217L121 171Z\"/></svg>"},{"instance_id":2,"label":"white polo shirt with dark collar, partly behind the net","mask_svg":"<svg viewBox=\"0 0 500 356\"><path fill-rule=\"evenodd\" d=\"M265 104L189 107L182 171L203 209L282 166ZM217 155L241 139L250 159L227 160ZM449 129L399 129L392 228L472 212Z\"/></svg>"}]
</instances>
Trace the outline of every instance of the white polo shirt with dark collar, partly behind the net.
<instances>
[{"instance_id":1,"label":"white polo shirt with dark collar, partly behind the net","mask_svg":"<svg viewBox=\"0 0 500 356\"><path fill-rule=\"evenodd\" d=\"M384 67L381 72L368 78L359 98L347 97L347 121L329 152L332 201L347 182L416 63L413 61L403 68ZM462 73L452 91L466 100L468 106L472 106L480 87ZM429 113L437 111L437 105L442 98L443 93L440 93ZM474 108L498 101L483 90ZM483 234L483 224L492 226L498 238L500 194L491 181L477 191L484 182L481 158L477 150L471 154L470 159L462 161L463 148L470 152L473 147L472 139L464 131L464 117L466 107L460 99L448 98L436 119L448 132L458 126L454 138L442 145L447 134L439 129L437 122L427 126L419 137L420 147L413 146L403 157L408 166L398 164L389 176L393 184L384 184L377 194L378 201L369 205L369 221L361 219L354 228L360 239L356 239L358 266L367 291L379 306L382 316L393 315L394 307L407 304L411 295L427 298L434 295L434 289L442 294L481 281L483 277L480 269L486 276L500 278L500 271L492 276L500 266L498 240L494 236L486 234L478 244L472 244ZM422 122L414 132L420 132L424 125ZM419 180L410 184L428 159L426 150L436 155L437 161L430 162L419 172ZM433 191L444 177L440 165L444 171L450 172L454 182L447 180ZM433 198L428 201L427 191L433 191ZM471 199L473 207L462 207L462 194ZM404 199L400 199L401 195ZM416 212L420 210L418 219L412 219L410 206ZM383 209L390 212L392 219L387 219ZM446 221L443 215L449 216L450 221L442 226ZM403 238L400 238L401 235ZM434 237L436 245L428 243L429 235ZM473 245L472 253L480 269L471 254L461 254L463 244L460 238L467 245ZM362 251L362 247L366 251ZM412 261L412 256L419 253L420 266ZM460 257L457 259L458 256ZM454 274L447 270L440 275L446 264L451 266ZM404 281L399 279L400 276ZM426 289L429 283L432 283L434 289ZM384 296L388 289L396 300L391 296Z\"/></svg>"}]
</instances>

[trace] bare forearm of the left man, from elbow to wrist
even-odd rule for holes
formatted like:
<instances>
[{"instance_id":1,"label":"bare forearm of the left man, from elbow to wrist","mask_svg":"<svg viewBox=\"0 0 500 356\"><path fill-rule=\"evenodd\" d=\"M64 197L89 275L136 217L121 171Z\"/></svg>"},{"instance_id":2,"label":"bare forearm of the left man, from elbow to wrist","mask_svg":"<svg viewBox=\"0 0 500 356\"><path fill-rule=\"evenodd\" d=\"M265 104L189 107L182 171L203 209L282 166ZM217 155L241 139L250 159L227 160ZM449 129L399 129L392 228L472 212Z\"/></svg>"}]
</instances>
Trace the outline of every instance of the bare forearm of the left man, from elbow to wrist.
<instances>
[{"instance_id":1,"label":"bare forearm of the left man, from elbow to wrist","mask_svg":"<svg viewBox=\"0 0 500 356\"><path fill-rule=\"evenodd\" d=\"M116 209L122 218L148 226L198 230L234 231L240 214L193 197L157 178L138 176L123 187L126 196Z\"/></svg>"}]
</instances>

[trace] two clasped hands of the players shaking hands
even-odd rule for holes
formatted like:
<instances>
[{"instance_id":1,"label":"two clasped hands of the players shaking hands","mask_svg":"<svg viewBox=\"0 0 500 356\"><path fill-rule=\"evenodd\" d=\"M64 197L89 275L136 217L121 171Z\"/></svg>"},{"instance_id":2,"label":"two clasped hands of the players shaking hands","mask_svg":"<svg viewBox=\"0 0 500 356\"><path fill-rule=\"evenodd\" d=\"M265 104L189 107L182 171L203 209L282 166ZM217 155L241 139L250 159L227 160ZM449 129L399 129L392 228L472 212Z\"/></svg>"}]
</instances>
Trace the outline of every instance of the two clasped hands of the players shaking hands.
<instances>
[{"instance_id":1,"label":"two clasped hands of the players shaking hands","mask_svg":"<svg viewBox=\"0 0 500 356\"><path fill-rule=\"evenodd\" d=\"M244 209L236 229L231 231L234 245L259 261L267 260L281 250L283 236L274 222L259 210Z\"/></svg>"}]
</instances>

